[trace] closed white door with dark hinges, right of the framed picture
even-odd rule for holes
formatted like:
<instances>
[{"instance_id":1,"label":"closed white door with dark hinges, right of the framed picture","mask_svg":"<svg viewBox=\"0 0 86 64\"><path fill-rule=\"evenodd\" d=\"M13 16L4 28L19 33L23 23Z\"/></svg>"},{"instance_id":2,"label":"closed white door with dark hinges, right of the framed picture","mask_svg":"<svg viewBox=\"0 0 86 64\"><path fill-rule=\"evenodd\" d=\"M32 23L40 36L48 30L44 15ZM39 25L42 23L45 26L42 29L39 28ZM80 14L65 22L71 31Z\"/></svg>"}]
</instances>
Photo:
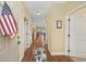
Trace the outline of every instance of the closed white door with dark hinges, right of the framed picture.
<instances>
[{"instance_id":1,"label":"closed white door with dark hinges, right of the framed picture","mask_svg":"<svg viewBox=\"0 0 86 64\"><path fill-rule=\"evenodd\" d=\"M86 55L86 17L70 18L70 54Z\"/></svg>"}]
</instances>

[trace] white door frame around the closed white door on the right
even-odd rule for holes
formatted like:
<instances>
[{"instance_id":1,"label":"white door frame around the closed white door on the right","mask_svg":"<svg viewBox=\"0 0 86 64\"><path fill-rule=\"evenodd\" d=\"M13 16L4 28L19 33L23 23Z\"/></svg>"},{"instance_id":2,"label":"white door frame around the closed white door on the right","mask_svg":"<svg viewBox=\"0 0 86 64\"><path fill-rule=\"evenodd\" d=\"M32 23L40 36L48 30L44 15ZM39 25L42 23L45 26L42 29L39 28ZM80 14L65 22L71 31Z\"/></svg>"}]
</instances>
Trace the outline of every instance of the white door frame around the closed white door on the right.
<instances>
[{"instance_id":1,"label":"white door frame around the closed white door on the right","mask_svg":"<svg viewBox=\"0 0 86 64\"><path fill-rule=\"evenodd\" d=\"M70 49L70 38L69 38L69 34L70 34L70 22L69 22L69 18L70 18L70 15L74 14L75 12L77 12L78 10L83 9L84 7L86 7L86 2L85 3L82 3L81 5L78 5L77 8L73 9L72 11L70 11L67 14L66 14L66 21L65 21L65 50L67 52L67 50ZM67 52L67 55L71 55L71 56L76 56L76 55L72 55L70 54L70 52ZM79 56L79 55L78 55Z\"/></svg>"}]
</instances>

